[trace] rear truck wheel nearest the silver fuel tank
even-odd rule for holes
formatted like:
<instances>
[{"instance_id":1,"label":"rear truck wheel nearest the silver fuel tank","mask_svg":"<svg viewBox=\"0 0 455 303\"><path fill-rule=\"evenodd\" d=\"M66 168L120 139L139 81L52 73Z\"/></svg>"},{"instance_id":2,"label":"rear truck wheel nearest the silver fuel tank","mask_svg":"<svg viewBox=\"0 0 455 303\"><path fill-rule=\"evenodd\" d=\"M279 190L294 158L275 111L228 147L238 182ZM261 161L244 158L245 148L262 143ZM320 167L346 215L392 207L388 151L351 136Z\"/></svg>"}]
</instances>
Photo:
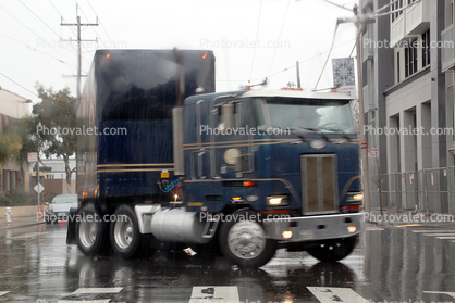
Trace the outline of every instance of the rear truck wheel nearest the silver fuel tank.
<instances>
[{"instance_id":1,"label":"rear truck wheel nearest the silver fuel tank","mask_svg":"<svg viewBox=\"0 0 455 303\"><path fill-rule=\"evenodd\" d=\"M136 213L127 205L116 209L116 220L111 223L111 244L115 254L123 258L147 255L156 244L152 235L142 235L137 224Z\"/></svg>"}]
</instances>

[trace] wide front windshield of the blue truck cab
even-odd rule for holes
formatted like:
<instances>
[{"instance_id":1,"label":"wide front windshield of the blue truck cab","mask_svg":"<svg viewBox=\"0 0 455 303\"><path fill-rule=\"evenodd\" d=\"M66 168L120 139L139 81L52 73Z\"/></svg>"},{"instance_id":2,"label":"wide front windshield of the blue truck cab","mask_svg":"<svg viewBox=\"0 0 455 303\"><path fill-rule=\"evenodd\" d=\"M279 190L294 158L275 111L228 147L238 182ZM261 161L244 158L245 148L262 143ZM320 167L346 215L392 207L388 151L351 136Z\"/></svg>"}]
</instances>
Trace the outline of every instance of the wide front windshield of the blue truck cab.
<instances>
[{"instance_id":1,"label":"wide front windshield of the blue truck cab","mask_svg":"<svg viewBox=\"0 0 455 303\"><path fill-rule=\"evenodd\" d=\"M267 108L271 127L356 132L351 104L344 100L267 98L262 104Z\"/></svg>"}]
</instances>

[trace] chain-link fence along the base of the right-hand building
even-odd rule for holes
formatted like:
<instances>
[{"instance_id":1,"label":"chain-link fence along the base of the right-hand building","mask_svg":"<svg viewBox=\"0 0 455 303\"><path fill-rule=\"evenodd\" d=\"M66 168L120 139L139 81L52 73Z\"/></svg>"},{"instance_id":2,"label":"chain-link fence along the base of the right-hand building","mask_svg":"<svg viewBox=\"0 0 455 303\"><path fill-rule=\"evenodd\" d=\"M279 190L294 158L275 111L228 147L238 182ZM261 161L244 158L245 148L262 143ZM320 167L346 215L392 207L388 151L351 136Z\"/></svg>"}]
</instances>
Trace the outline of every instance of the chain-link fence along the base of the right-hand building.
<instances>
[{"instance_id":1,"label":"chain-link fence along the base of the right-hand building","mask_svg":"<svg viewBox=\"0 0 455 303\"><path fill-rule=\"evenodd\" d=\"M455 213L455 167L382 174L380 179L370 185L372 207L382 202L383 210Z\"/></svg>"}]
</instances>

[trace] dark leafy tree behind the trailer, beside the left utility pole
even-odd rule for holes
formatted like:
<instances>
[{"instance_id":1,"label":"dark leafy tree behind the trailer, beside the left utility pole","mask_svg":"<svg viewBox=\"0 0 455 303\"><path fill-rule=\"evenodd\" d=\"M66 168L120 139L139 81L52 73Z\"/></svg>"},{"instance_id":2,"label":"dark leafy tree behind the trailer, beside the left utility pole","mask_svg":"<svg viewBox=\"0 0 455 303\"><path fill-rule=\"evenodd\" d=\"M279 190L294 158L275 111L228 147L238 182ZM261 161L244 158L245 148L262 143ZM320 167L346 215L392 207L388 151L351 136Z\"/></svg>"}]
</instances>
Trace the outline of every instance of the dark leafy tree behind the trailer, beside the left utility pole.
<instances>
[{"instance_id":1,"label":"dark leafy tree behind the trailer, beside the left utility pole","mask_svg":"<svg viewBox=\"0 0 455 303\"><path fill-rule=\"evenodd\" d=\"M35 134L40 142L40 152L46 157L57 155L65 163L66 182L71 184L70 156L76 151L76 98L66 87L59 91L37 85L40 103L33 106L36 119Z\"/></svg>"}]
</instances>

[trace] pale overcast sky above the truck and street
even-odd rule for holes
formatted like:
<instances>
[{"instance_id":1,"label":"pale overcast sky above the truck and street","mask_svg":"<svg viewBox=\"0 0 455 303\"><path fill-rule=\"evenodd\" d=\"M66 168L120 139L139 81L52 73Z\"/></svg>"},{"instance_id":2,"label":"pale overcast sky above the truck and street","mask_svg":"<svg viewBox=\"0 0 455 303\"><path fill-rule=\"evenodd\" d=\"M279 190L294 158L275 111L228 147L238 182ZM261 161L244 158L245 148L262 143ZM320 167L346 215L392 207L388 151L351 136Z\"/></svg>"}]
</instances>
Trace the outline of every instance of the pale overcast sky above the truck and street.
<instances>
[{"instance_id":1,"label":"pale overcast sky above the truck and street","mask_svg":"<svg viewBox=\"0 0 455 303\"><path fill-rule=\"evenodd\" d=\"M297 61L302 87L312 90L332 41L318 89L333 85L332 58L355 56L353 24L340 25L334 38L336 18L353 13L323 0L0 0L0 86L34 103L37 83L76 96L76 27L61 26L76 14L82 23L98 20L82 27L82 39L98 40L82 43L83 74L97 49L208 49L217 91L266 77L267 89L296 84Z\"/></svg>"}]
</instances>

